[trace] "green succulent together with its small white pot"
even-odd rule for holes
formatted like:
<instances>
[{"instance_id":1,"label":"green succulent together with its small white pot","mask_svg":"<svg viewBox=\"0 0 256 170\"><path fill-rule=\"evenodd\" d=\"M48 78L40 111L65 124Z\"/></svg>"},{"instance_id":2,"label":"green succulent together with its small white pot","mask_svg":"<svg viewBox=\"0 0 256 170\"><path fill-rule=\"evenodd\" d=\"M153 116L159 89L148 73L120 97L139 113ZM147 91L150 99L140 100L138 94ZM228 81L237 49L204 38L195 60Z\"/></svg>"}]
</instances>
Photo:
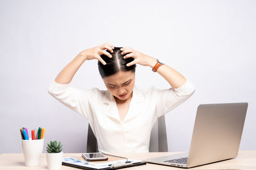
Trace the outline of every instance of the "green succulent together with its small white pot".
<instances>
[{"instance_id":1,"label":"green succulent together with its small white pot","mask_svg":"<svg viewBox=\"0 0 256 170\"><path fill-rule=\"evenodd\" d=\"M46 160L48 169L61 169L63 157L62 146L63 145L58 141L50 141L47 143Z\"/></svg>"}]
</instances>

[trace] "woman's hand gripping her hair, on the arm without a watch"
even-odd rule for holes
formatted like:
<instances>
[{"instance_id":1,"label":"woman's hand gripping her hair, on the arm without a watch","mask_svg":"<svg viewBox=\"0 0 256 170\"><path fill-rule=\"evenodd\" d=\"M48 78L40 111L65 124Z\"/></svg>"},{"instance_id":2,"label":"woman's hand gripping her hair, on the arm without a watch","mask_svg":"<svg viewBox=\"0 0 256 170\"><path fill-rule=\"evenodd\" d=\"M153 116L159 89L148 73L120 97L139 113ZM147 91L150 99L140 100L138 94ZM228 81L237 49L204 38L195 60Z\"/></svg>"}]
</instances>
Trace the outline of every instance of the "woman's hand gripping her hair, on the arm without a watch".
<instances>
[{"instance_id":1,"label":"woman's hand gripping her hair, on the arm without a watch","mask_svg":"<svg viewBox=\"0 0 256 170\"><path fill-rule=\"evenodd\" d=\"M97 59L99 60L103 65L106 65L106 62L100 57L100 55L104 54L107 55L109 58L112 57L112 55L109 52L113 53L114 46L110 43L104 43L103 45L95 46L93 48L88 48L86 50L83 50L80 55L84 57L85 60L93 60Z\"/></svg>"}]
</instances>

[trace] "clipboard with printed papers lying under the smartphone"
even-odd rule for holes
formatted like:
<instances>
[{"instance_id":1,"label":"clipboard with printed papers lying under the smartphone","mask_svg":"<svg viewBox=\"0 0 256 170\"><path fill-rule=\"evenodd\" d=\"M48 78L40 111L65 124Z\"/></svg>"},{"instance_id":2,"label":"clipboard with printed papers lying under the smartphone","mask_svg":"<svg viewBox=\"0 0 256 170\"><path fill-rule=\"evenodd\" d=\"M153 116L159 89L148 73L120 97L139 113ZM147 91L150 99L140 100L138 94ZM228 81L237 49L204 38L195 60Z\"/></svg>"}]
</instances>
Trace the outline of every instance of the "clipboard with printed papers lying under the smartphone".
<instances>
[{"instance_id":1,"label":"clipboard with printed papers lying under the smartphone","mask_svg":"<svg viewBox=\"0 0 256 170\"><path fill-rule=\"evenodd\" d=\"M103 169L121 169L125 167L132 166L141 166L147 164L142 160L132 160L128 161L125 159L116 160L114 157L108 157L109 160L112 161L97 161L97 162L88 162L83 159L83 157L65 157L62 159L63 166L76 167L79 169L95 169L95 170L103 170Z\"/></svg>"}]
</instances>

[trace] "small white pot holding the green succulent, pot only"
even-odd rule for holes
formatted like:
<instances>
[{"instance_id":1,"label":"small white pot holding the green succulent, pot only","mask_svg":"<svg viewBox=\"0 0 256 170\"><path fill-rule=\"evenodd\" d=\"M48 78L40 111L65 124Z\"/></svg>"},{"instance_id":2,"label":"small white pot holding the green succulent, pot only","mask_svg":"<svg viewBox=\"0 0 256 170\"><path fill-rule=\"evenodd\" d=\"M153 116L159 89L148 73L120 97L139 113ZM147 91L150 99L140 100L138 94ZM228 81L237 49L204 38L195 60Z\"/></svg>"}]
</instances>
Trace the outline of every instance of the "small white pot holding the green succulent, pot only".
<instances>
[{"instance_id":1,"label":"small white pot holding the green succulent, pot only","mask_svg":"<svg viewBox=\"0 0 256 170\"><path fill-rule=\"evenodd\" d=\"M46 153L47 168L50 170L61 169L63 152Z\"/></svg>"}]
</instances>

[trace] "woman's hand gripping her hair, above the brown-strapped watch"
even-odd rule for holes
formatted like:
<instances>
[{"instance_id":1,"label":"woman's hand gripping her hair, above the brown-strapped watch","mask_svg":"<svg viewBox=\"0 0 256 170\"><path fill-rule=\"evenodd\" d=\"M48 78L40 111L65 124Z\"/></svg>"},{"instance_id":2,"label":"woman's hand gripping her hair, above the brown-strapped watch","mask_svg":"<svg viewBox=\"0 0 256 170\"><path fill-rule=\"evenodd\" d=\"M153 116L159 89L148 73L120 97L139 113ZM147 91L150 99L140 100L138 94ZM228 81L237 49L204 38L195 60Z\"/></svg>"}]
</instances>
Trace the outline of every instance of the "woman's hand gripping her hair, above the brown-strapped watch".
<instances>
[{"instance_id":1,"label":"woman's hand gripping her hair, above the brown-strapped watch","mask_svg":"<svg viewBox=\"0 0 256 170\"><path fill-rule=\"evenodd\" d=\"M120 50L122 50L122 55L125 55L125 53L128 53L124 56L124 59L127 59L129 57L134 58L134 60L126 64L126 66L140 64L142 66L152 67L152 64L156 64L156 59L154 59L154 57L150 57L148 55L145 55L144 53L138 52L131 47L123 47Z\"/></svg>"}]
</instances>

